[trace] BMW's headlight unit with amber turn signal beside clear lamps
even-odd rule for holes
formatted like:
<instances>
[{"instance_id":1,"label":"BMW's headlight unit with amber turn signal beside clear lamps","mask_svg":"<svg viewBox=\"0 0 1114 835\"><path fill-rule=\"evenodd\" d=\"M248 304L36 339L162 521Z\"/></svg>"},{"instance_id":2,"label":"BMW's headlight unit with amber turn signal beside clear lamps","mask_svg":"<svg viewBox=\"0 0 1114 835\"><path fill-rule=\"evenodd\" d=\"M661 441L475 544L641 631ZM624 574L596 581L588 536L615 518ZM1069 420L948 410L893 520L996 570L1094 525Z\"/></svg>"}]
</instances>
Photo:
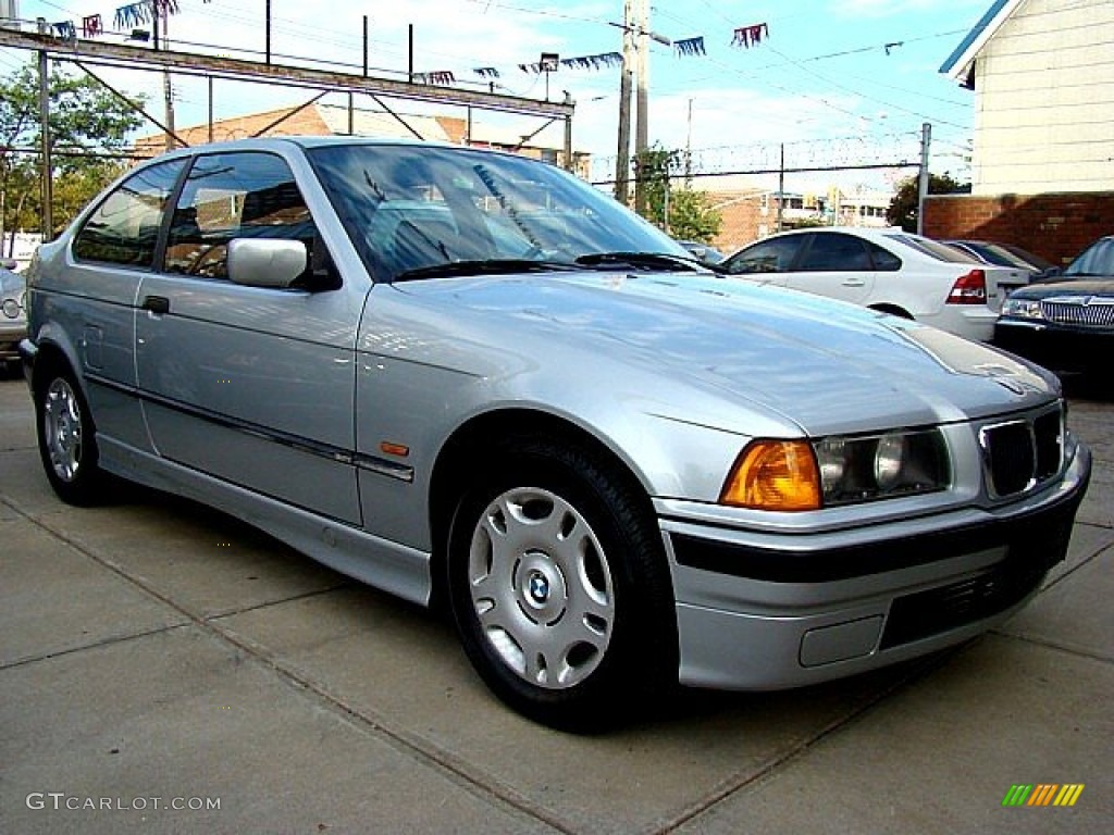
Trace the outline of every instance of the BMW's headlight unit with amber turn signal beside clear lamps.
<instances>
[{"instance_id":1,"label":"BMW's headlight unit with amber turn signal beside clear lamps","mask_svg":"<svg viewBox=\"0 0 1114 835\"><path fill-rule=\"evenodd\" d=\"M936 429L807 441L759 440L735 462L720 501L755 510L819 510L942 490L950 464Z\"/></svg>"}]
</instances>

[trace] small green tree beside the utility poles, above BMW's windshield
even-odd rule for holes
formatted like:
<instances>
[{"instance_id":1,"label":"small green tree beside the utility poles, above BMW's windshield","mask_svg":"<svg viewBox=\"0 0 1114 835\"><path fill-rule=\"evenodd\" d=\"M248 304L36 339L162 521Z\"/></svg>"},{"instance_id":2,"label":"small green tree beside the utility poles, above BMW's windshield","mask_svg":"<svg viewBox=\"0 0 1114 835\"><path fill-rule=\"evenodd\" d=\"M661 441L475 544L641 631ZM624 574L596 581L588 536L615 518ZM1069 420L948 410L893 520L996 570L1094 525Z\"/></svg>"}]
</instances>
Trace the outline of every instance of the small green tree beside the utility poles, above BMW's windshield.
<instances>
[{"instance_id":1,"label":"small green tree beside the utility poles, above BMW's windshield","mask_svg":"<svg viewBox=\"0 0 1114 835\"><path fill-rule=\"evenodd\" d=\"M707 244L720 234L723 218L712 208L706 191L673 187L673 180L682 175L683 164L684 151L666 150L656 144L638 156L636 165L646 196L646 219L676 238Z\"/></svg>"}]
</instances>

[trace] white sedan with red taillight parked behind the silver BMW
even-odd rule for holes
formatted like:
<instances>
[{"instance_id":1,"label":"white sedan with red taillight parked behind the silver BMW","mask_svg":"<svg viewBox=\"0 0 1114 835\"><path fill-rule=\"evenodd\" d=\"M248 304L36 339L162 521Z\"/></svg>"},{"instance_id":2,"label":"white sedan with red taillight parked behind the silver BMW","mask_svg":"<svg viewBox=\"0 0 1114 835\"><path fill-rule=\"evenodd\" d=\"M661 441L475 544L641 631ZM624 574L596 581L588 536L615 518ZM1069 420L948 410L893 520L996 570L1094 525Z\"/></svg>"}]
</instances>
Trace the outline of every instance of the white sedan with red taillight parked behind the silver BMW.
<instances>
[{"instance_id":1,"label":"white sedan with red taillight parked behind the silver BMW","mask_svg":"<svg viewBox=\"0 0 1114 835\"><path fill-rule=\"evenodd\" d=\"M1015 271L895 228L782 232L720 266L730 275L853 302L984 342L994 336L1001 299L1027 283Z\"/></svg>"}]
</instances>

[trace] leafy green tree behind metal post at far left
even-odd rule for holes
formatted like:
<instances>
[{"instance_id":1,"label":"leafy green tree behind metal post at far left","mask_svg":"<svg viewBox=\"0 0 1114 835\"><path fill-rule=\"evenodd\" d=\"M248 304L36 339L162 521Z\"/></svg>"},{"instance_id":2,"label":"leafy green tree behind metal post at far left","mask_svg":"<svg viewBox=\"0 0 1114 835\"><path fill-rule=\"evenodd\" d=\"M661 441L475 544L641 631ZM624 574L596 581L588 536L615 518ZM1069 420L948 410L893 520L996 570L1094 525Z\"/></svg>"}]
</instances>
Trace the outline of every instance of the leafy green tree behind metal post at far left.
<instances>
[{"instance_id":1,"label":"leafy green tree behind metal post at far left","mask_svg":"<svg viewBox=\"0 0 1114 835\"><path fill-rule=\"evenodd\" d=\"M51 176L66 195L51 205L58 209L53 223L59 228L80 209L82 204L75 204L82 194L88 199L96 194L89 188L118 173L118 159L106 155L127 149L143 117L92 78L57 67L49 73L47 98ZM137 106L145 101L131 98ZM38 225L29 223L28 214L35 212L37 218L41 213L40 148L39 71L31 62L0 79L0 232Z\"/></svg>"}]
</instances>

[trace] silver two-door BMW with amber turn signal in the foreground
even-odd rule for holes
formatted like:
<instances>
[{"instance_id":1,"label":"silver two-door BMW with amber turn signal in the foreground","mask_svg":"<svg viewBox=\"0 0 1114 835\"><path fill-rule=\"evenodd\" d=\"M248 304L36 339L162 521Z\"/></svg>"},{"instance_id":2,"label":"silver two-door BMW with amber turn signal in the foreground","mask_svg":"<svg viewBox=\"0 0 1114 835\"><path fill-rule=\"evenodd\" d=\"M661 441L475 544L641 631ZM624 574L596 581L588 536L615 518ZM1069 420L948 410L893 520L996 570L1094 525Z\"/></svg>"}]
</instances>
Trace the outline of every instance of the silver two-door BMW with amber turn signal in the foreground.
<instances>
[{"instance_id":1,"label":"silver two-door BMW with amber turn signal in the foreground","mask_svg":"<svg viewBox=\"0 0 1114 835\"><path fill-rule=\"evenodd\" d=\"M491 689L569 728L978 635L1064 558L1091 469L1051 373L725 279L459 146L146 163L40 248L22 353L65 501L115 473L447 603Z\"/></svg>"}]
</instances>

